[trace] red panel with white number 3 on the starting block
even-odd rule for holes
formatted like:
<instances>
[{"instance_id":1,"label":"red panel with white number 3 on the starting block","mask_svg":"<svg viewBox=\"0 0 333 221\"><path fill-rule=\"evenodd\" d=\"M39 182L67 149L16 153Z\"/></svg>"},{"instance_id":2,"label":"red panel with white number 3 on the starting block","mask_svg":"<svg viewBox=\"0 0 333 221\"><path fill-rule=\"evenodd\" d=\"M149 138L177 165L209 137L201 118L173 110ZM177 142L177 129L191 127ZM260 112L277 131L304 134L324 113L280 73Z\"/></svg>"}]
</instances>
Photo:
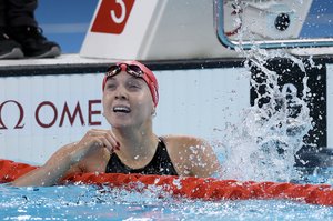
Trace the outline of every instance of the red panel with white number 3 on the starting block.
<instances>
[{"instance_id":1,"label":"red panel with white number 3 on the starting block","mask_svg":"<svg viewBox=\"0 0 333 221\"><path fill-rule=\"evenodd\" d=\"M120 34L128 21L134 0L103 0L91 31Z\"/></svg>"}]
</instances>

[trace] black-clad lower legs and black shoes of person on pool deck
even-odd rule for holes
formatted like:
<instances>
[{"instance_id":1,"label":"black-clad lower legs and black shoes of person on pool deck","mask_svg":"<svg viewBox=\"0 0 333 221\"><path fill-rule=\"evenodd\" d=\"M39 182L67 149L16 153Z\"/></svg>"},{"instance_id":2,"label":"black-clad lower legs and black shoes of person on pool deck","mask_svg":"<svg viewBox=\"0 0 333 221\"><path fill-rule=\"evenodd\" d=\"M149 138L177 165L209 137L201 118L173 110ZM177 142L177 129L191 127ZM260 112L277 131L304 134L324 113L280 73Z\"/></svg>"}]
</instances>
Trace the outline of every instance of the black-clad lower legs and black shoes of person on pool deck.
<instances>
[{"instance_id":1,"label":"black-clad lower legs and black shoes of person on pool deck","mask_svg":"<svg viewBox=\"0 0 333 221\"><path fill-rule=\"evenodd\" d=\"M38 0L0 0L0 59L60 56L60 46L38 27L37 6Z\"/></svg>"}]
</instances>

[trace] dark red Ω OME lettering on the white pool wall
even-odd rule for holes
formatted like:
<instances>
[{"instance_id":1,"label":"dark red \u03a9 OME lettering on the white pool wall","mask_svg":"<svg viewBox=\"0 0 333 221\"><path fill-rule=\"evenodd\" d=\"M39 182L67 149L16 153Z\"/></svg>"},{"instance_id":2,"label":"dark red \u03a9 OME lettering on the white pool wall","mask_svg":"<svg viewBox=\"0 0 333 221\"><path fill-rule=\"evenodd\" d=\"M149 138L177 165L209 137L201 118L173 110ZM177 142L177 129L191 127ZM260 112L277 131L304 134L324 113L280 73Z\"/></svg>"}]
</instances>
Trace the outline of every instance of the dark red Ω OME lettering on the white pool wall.
<instances>
[{"instance_id":1,"label":"dark red \u03a9 OME lettering on the white pool wall","mask_svg":"<svg viewBox=\"0 0 333 221\"><path fill-rule=\"evenodd\" d=\"M101 121L93 120L94 115L101 115L100 107L99 109L95 108L95 106L100 104L101 100L88 100L88 113L83 114L82 107L79 101L77 102L74 110L70 110L67 101L64 101L63 106L61 107L57 107L51 101L42 101L36 107L34 115L31 115L30 120L34 120L37 124L41 128L61 128L63 127L65 121L69 122L71 125L73 125L75 121L79 121L81 125L85 125L87 123L89 125L101 125ZM16 113L16 111L18 111L19 114L10 117L11 119L18 119L13 128L8 128L7 123L9 119L3 117L3 110L7 106L10 106L11 109L17 109L12 112ZM50 120L44 120L43 118L41 118L42 113L44 112L49 113L51 118ZM27 118L24 107L19 101L7 100L0 103L0 130L23 129L26 125L24 118Z\"/></svg>"}]
</instances>

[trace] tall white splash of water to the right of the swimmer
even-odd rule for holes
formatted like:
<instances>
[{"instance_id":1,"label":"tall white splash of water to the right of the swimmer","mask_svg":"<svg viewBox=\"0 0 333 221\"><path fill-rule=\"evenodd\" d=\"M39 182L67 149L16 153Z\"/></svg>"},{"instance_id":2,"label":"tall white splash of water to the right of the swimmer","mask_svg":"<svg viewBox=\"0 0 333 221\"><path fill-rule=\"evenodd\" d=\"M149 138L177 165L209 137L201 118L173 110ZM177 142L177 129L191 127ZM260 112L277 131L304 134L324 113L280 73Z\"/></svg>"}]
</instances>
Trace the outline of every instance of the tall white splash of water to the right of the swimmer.
<instances>
[{"instance_id":1,"label":"tall white splash of water to the right of the swimmer","mask_svg":"<svg viewBox=\"0 0 333 221\"><path fill-rule=\"evenodd\" d=\"M239 43L245 36L245 29L238 34ZM241 47L236 50L246 58L245 67L261 69L265 76L265 93L258 93L254 106L243 110L240 124L229 124L223 131L222 179L255 181L290 181L299 179L294 168L295 153L302 148L303 137L312 129L312 118L307 102L311 89L302 60L289 54L285 50L263 50L253 42L251 50ZM302 97L292 83L278 84L279 76L269 70L266 61L274 58L287 58L296 64L304 78ZM311 67L314 67L310 58ZM251 80L251 87L258 89L263 83ZM260 100L269 101L260 106Z\"/></svg>"}]
</instances>

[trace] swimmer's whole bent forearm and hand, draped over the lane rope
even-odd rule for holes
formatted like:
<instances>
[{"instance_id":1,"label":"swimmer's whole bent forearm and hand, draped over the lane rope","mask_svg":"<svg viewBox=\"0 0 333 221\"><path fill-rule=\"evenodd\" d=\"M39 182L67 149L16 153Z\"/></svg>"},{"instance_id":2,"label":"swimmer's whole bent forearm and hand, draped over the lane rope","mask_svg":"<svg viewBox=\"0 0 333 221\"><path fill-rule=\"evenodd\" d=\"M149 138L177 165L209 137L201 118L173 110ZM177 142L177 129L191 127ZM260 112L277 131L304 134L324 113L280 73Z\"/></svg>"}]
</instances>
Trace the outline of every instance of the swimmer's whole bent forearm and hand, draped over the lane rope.
<instances>
[{"instance_id":1,"label":"swimmer's whole bent forearm and hand, draped over the lane rope","mask_svg":"<svg viewBox=\"0 0 333 221\"><path fill-rule=\"evenodd\" d=\"M110 152L119 150L120 144L111 130L89 130L78 143L70 143L59 149L40 168L32 170L12 182L14 187L53 185L71 173L81 171L75 164L83 158L101 149Z\"/></svg>"}]
</instances>

